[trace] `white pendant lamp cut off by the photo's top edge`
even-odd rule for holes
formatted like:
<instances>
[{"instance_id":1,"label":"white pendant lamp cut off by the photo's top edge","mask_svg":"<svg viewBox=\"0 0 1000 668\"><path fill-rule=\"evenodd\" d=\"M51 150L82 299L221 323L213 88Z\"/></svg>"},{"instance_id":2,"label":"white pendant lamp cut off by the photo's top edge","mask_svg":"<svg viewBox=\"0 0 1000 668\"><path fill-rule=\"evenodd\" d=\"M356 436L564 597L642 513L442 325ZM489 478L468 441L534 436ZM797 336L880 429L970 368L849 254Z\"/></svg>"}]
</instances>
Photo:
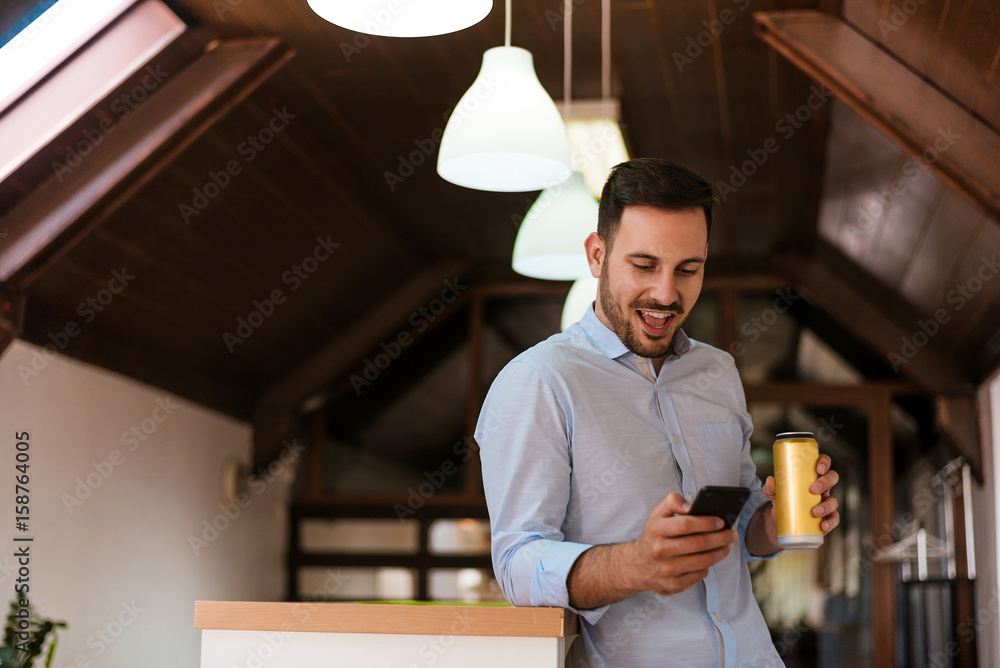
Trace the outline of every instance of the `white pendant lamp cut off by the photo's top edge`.
<instances>
[{"instance_id":1,"label":"white pendant lamp cut off by the photo's top edge","mask_svg":"<svg viewBox=\"0 0 1000 668\"><path fill-rule=\"evenodd\" d=\"M428 37L464 30L486 18L493 0L308 0L330 23L380 37Z\"/></svg>"}]
</instances>

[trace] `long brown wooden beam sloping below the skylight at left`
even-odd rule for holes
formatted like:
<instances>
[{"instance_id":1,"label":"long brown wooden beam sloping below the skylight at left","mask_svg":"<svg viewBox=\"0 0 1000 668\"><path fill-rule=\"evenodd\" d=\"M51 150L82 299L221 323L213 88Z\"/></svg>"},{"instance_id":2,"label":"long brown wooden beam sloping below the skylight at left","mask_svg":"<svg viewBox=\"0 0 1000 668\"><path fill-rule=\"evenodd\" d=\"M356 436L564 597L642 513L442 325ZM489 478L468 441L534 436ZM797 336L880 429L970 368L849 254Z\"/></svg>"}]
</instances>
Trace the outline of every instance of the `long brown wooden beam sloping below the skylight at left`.
<instances>
[{"instance_id":1,"label":"long brown wooden beam sloping below the skylight at left","mask_svg":"<svg viewBox=\"0 0 1000 668\"><path fill-rule=\"evenodd\" d=\"M16 274L29 284L290 57L277 40L222 42L174 75L85 166L53 176L0 218L10 230L0 280Z\"/></svg>"}]
</instances>

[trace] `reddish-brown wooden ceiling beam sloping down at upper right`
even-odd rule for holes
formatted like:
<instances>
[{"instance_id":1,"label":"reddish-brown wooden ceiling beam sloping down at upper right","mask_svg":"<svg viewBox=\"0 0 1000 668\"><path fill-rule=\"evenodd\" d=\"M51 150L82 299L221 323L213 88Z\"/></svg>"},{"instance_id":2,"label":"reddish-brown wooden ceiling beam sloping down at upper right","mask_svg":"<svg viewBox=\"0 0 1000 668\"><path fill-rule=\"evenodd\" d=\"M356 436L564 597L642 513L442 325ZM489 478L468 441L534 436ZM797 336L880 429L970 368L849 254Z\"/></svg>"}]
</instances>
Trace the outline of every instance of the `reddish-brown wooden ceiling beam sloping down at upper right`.
<instances>
[{"instance_id":1,"label":"reddish-brown wooden ceiling beam sloping down at upper right","mask_svg":"<svg viewBox=\"0 0 1000 668\"><path fill-rule=\"evenodd\" d=\"M938 141L945 151L929 168L1000 218L1000 136L991 128L833 17L755 16L765 41L907 151L934 151Z\"/></svg>"}]
</instances>

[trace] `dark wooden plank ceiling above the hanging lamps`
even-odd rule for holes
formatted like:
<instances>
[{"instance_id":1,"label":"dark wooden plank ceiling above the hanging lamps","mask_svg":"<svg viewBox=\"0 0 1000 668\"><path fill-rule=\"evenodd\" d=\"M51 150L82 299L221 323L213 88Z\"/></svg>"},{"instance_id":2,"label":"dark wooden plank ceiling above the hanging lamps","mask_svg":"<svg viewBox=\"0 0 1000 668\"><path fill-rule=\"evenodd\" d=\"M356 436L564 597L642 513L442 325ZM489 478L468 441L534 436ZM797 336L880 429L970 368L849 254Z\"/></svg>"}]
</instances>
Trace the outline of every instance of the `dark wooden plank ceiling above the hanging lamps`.
<instances>
[{"instance_id":1,"label":"dark wooden plank ceiling above the hanging lamps","mask_svg":"<svg viewBox=\"0 0 1000 668\"><path fill-rule=\"evenodd\" d=\"M445 281L516 278L509 265L517 221L537 194L466 190L434 168L435 137L474 80L482 53L503 42L502 3L468 30L410 40L358 36L317 17L305 0L169 4L193 26L186 42L164 56L174 59L166 61L171 76L215 38L277 38L294 57L193 130L190 141L130 190L110 204L102 200L73 244L10 278L8 294L25 298L24 339L52 343L75 322L79 334L60 346L64 354L252 419L262 398L293 375L313 369L314 380L326 373L329 381L327 372L338 369L339 382L346 382ZM838 248L829 215L818 231L826 151L835 154L831 173L857 180L867 172L857 164L863 153L850 146L864 140L841 128L827 149L830 96L817 95L809 78L754 35L752 17L755 10L817 4L613 0L612 88L630 154L674 160L734 186L724 192L713 226L710 272L766 267L776 251L808 254L818 240L865 281L885 287L889 298L919 302L923 293L913 280L940 291L963 271L955 259L963 248L1000 249L995 221L970 214L968 233L948 240L950 263L935 268L928 260L909 279L900 266L916 250L890 243L889 223L887 231L872 233L864 256ZM987 0L970 4L996 21ZM574 6L573 94L599 97L600 3ZM888 0L851 0L842 12L876 39L877 21L891 7ZM977 55L972 74L952 75L964 72L966 54L996 53L1000 31L984 36L976 27L983 17L945 0L921 7L907 26L879 41L904 59L919 59L931 80L953 82L949 94L996 128L996 58ZM563 94L561 17L561 2L514 2L512 42L533 53L539 79L556 100ZM919 48L927 40L935 45L933 58ZM50 165L66 160L68 146L113 117L113 99L0 184L0 222L51 181ZM157 93L145 104L156 105ZM864 146L892 154L872 158L880 164L900 159L891 146ZM744 167L765 153L765 164ZM402 182L387 179L392 174ZM827 188L880 187L830 178ZM217 193L213 181L224 182ZM965 214L940 214L932 229L948 237L946 214ZM922 243L934 244L929 234ZM134 279L102 310L88 310L87 300L116 271ZM997 287L1000 281L991 286ZM268 306L276 290L283 299ZM266 317L246 336L240 320L256 319L256 311ZM982 306L975 315L995 311ZM980 345L996 329L970 319L948 344ZM234 335L243 340L234 343ZM969 355L959 360L963 373L973 363ZM326 366L317 366L319 359ZM996 356L990 359L995 364Z\"/></svg>"}]
</instances>

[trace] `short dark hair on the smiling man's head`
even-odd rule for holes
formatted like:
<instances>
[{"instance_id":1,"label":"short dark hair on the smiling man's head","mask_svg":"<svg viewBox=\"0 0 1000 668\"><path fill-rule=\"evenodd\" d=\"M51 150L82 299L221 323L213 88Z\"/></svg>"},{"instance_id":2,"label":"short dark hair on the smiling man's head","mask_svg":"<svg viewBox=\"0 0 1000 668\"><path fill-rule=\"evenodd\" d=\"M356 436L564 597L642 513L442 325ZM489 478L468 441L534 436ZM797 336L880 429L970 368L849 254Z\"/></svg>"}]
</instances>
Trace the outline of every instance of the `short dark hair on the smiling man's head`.
<instances>
[{"instance_id":1,"label":"short dark hair on the smiling man's head","mask_svg":"<svg viewBox=\"0 0 1000 668\"><path fill-rule=\"evenodd\" d=\"M712 231L712 184L687 167L658 158L636 158L611 170L597 213L597 234L608 249L614 243L627 206L652 206L666 211L700 208Z\"/></svg>"}]
</instances>

